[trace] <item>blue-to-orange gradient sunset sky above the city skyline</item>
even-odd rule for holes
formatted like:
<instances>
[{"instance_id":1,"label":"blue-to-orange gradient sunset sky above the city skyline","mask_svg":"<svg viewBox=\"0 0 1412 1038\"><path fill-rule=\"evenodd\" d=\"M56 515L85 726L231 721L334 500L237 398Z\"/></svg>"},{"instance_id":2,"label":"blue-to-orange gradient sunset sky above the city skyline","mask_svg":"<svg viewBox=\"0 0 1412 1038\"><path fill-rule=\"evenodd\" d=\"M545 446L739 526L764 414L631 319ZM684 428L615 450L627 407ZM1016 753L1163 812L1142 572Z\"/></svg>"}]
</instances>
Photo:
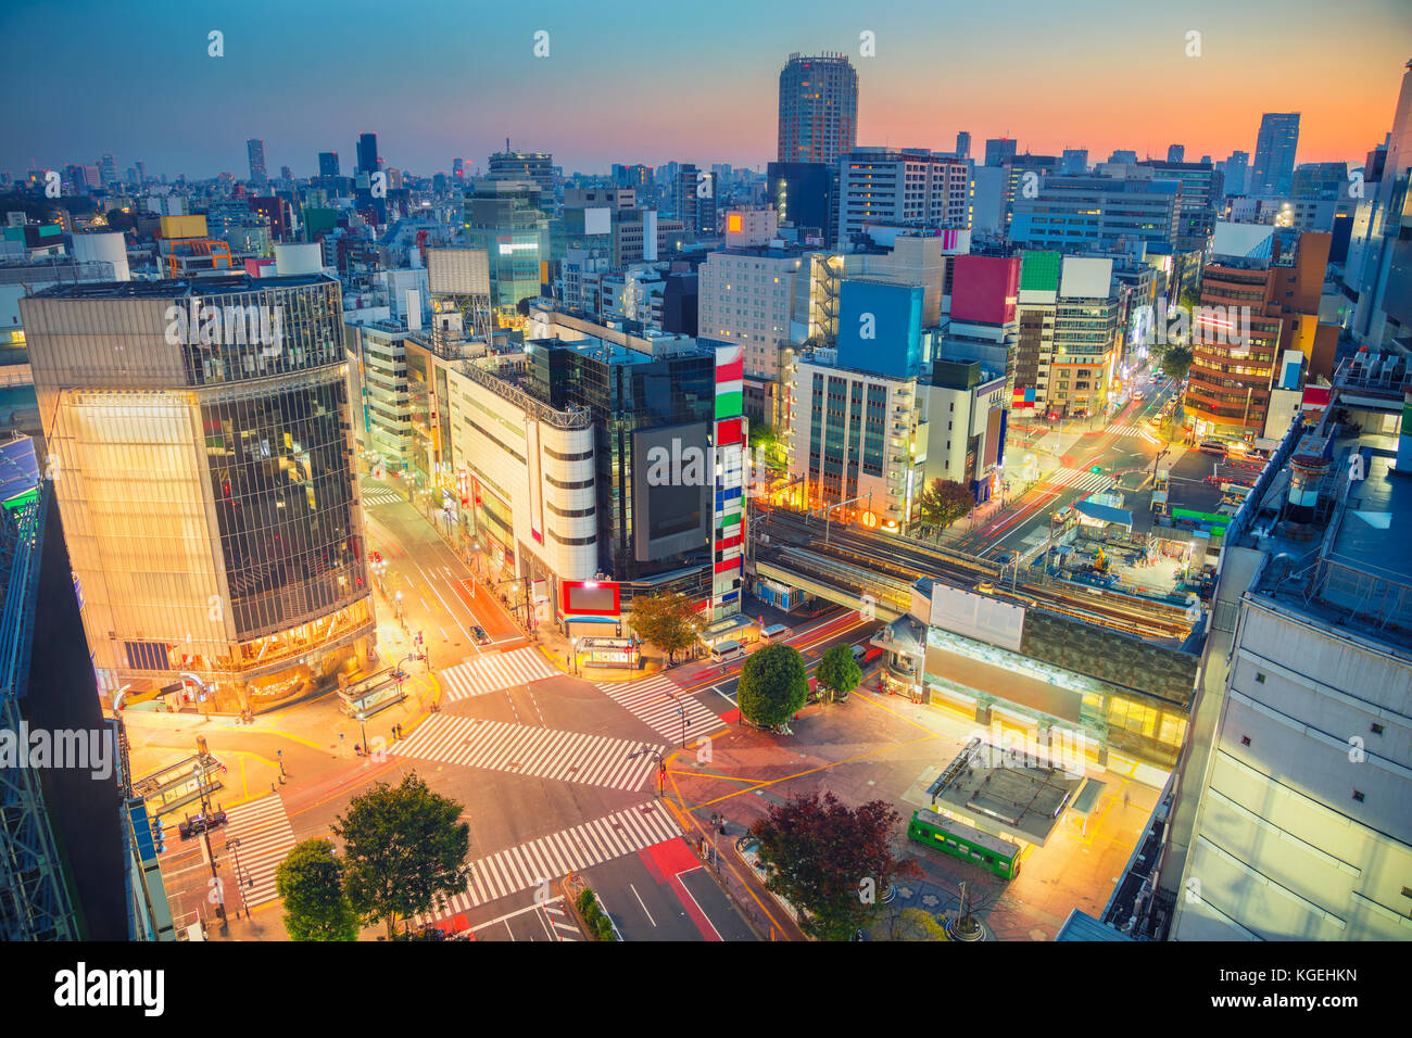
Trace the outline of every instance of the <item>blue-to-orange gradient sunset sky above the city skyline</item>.
<instances>
[{"instance_id":1,"label":"blue-to-orange gradient sunset sky above the city skyline","mask_svg":"<svg viewBox=\"0 0 1412 1038\"><path fill-rule=\"evenodd\" d=\"M225 32L223 58L206 34ZM549 32L549 56L532 35ZM858 34L877 56L858 55ZM1202 32L1202 56L1186 34ZM794 51L858 71L858 144L950 150L969 130L1058 154L1254 153L1262 112L1300 112L1299 161L1361 165L1392 123L1412 4L1278 0L3 0L0 169L112 153L148 174L353 168L363 130L428 175L491 151L565 171L669 160L764 168Z\"/></svg>"}]
</instances>

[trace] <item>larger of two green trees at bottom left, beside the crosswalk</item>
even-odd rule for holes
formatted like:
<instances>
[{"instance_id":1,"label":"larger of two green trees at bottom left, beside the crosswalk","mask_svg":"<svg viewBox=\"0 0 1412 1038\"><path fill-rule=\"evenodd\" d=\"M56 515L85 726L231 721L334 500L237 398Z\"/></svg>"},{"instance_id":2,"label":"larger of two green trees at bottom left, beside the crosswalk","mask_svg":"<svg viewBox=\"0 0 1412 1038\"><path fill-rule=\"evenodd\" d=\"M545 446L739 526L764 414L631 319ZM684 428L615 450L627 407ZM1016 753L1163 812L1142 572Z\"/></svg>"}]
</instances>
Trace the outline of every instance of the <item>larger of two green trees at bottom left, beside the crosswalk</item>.
<instances>
[{"instance_id":1,"label":"larger of two green trees at bottom left, beside the crosswalk","mask_svg":"<svg viewBox=\"0 0 1412 1038\"><path fill-rule=\"evenodd\" d=\"M345 888L367 922L387 924L431 909L438 897L466 890L470 826L462 805L426 788L415 774L398 787L378 782L349 804L333 835L345 843Z\"/></svg>"}]
</instances>

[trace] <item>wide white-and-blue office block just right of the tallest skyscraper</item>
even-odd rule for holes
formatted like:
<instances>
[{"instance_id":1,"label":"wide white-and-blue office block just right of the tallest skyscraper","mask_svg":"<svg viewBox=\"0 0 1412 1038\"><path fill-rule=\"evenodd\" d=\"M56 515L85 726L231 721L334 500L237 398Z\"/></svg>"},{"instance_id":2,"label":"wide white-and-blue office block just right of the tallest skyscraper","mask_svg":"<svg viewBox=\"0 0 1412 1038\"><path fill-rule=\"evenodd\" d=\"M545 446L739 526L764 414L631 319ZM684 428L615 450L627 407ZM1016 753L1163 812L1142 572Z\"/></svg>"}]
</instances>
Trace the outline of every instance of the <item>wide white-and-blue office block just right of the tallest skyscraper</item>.
<instances>
[{"instance_id":1,"label":"wide white-and-blue office block just right of the tallest skyscraper","mask_svg":"<svg viewBox=\"0 0 1412 1038\"><path fill-rule=\"evenodd\" d=\"M926 148L853 148L840 162L839 237L866 223L966 227L970 162Z\"/></svg>"}]
</instances>

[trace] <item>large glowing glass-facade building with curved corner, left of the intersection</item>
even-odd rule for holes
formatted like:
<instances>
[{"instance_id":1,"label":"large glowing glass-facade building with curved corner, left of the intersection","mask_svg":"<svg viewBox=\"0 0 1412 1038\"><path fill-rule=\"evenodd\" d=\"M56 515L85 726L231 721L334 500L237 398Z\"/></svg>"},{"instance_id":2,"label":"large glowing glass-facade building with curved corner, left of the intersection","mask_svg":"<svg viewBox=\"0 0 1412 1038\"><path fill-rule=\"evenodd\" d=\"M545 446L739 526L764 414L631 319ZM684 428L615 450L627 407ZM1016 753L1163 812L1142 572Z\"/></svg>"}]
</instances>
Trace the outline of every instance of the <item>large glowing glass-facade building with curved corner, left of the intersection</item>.
<instances>
[{"instance_id":1,"label":"large glowing glass-facade building with curved corner, left of the intersection","mask_svg":"<svg viewBox=\"0 0 1412 1038\"><path fill-rule=\"evenodd\" d=\"M297 695L373 648L342 299L323 275L21 302L100 688Z\"/></svg>"}]
</instances>

